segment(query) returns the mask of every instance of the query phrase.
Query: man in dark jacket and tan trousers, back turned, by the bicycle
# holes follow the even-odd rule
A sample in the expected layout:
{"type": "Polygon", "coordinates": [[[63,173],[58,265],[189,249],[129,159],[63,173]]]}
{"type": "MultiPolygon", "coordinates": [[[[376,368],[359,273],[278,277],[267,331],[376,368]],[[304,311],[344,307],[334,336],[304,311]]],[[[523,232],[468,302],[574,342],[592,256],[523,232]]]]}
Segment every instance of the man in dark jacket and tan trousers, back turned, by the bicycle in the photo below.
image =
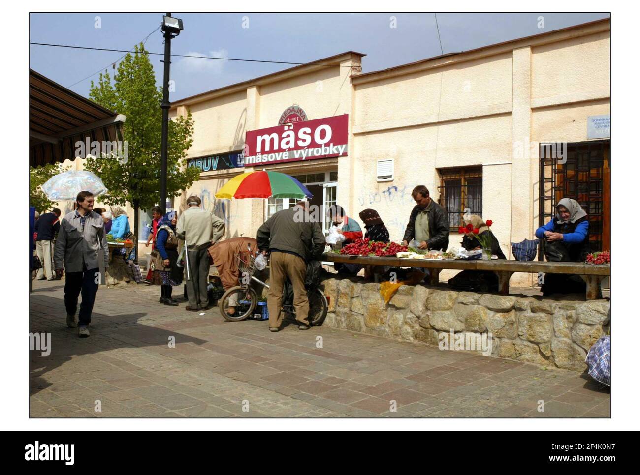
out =
{"type": "Polygon", "coordinates": [[[310,219],[307,201],[299,201],[288,210],[271,216],[257,233],[262,254],[271,254],[269,263],[269,331],[282,324],[282,288],[287,277],[293,286],[293,306],[298,329],[308,330],[309,300],[305,289],[307,261],[317,259],[324,251],[324,234],[320,224],[310,219]]]}

